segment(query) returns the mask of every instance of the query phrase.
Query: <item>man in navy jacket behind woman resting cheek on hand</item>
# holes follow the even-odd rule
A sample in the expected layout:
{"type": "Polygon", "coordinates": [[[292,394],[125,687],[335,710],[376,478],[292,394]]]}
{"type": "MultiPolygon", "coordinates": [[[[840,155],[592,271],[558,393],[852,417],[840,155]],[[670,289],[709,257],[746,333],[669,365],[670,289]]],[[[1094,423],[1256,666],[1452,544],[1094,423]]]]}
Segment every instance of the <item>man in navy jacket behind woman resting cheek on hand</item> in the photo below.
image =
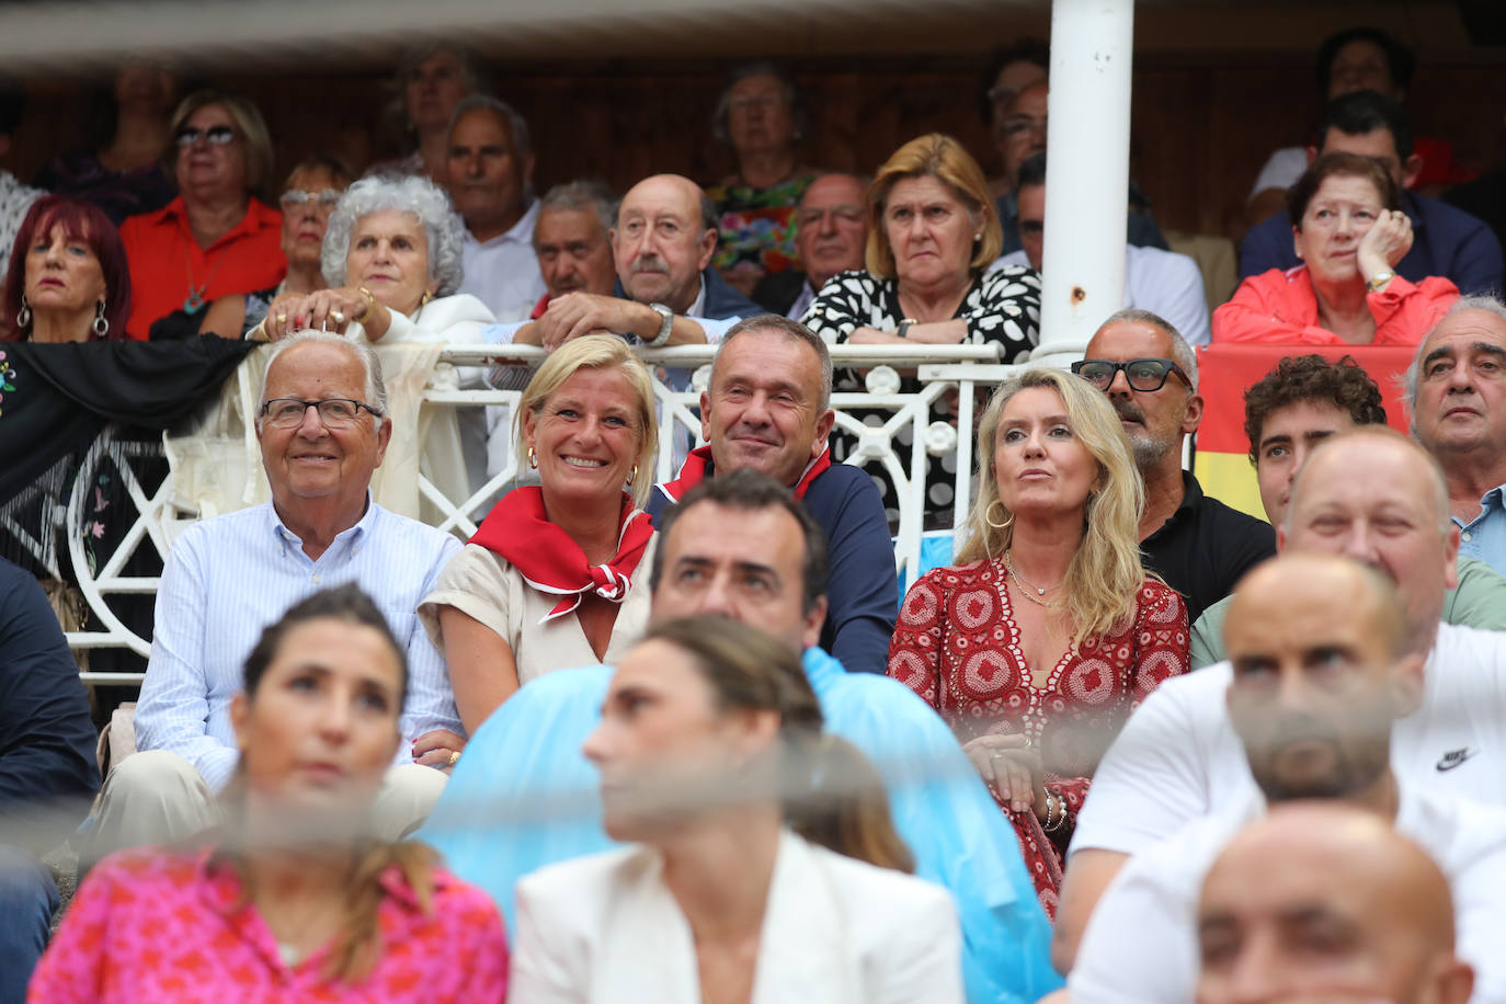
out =
{"type": "MultiPolygon", "coordinates": [[[[1373,90],[1330,101],[1318,123],[1318,143],[1307,151],[1309,164],[1336,151],[1373,157],[1401,187],[1422,170],[1422,160],[1413,154],[1407,113],[1373,90]]],[[[1402,193],[1402,209],[1416,235],[1411,250],[1396,265],[1404,278],[1417,283],[1428,275],[1443,275],[1465,295],[1501,288],[1501,245],[1483,221],[1411,191],[1402,193]]],[[[1292,221],[1285,212],[1256,224],[1239,245],[1241,278],[1300,263],[1292,247],[1292,221]]]]}

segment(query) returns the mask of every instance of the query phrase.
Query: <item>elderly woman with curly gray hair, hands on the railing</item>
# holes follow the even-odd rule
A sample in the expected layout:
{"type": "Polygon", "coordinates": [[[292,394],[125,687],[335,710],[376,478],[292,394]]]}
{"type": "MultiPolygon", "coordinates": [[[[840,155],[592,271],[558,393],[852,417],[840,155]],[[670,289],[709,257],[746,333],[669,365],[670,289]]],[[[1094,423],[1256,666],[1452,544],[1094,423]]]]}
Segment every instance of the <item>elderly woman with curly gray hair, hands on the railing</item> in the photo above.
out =
{"type": "Polygon", "coordinates": [[[301,328],[367,340],[483,340],[491,310],[461,284],[461,220],[426,178],[363,178],[340,197],[324,233],[330,289],[288,297],[267,312],[262,337],[301,328]]]}

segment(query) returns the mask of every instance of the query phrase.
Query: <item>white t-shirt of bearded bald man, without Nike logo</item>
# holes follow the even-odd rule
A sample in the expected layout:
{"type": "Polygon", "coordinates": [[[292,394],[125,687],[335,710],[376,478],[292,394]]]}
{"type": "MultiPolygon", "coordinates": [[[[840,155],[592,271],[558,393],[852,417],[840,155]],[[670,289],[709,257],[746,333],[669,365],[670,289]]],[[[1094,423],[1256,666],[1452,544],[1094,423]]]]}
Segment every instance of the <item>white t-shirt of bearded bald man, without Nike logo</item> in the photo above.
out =
{"type": "MultiPolygon", "coordinates": [[[[1461,768],[1462,769],[1462,768],[1461,768]]],[[[1506,984],[1506,808],[1399,783],[1396,829],[1438,864],[1453,891],[1456,951],[1474,966],[1471,1001],[1501,1001],[1506,984]]],[[[1200,954],[1203,876],[1245,823],[1265,814],[1254,795],[1194,820],[1137,853],[1098,902],[1077,965],[1072,1004],[1185,1004],[1200,954]]]]}

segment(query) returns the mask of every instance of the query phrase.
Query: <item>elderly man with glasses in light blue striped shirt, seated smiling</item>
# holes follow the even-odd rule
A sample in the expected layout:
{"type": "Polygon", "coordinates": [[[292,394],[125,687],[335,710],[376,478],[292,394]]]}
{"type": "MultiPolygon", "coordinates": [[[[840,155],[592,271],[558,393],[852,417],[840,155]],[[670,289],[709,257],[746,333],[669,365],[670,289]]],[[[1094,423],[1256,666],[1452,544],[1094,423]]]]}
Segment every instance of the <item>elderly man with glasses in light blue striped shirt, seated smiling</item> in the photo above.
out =
{"type": "MultiPolygon", "coordinates": [[[[321,589],[357,583],[408,659],[407,742],[376,802],[380,834],[396,837],[428,814],[446,778],[431,768],[453,765],[464,745],[444,659],[414,614],[461,545],[370,497],[392,438],[375,354],[334,334],[295,334],[277,345],[261,400],[271,501],[188,527],[167,555],[136,710],[140,753],[105,781],[86,864],[223,822],[217,795],[239,762],[230,703],[241,667],[267,625],[321,589]]],[[[310,679],[313,700],[318,667],[310,679]]]]}

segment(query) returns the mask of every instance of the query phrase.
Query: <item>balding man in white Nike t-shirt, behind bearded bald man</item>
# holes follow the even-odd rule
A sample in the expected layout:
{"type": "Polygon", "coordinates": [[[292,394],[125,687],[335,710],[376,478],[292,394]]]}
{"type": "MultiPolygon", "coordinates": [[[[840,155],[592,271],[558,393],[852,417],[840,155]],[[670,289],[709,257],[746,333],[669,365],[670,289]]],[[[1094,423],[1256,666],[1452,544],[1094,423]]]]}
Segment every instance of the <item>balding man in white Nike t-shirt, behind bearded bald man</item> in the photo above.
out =
{"type": "MultiPolygon", "coordinates": [[[[1402,598],[1408,649],[1426,655],[1422,706],[1392,735],[1402,778],[1506,805],[1506,635],[1438,623],[1456,581],[1458,527],[1437,462],[1386,426],[1330,437],[1309,455],[1280,551],[1348,554],[1402,598]]],[[[1072,837],[1053,962],[1077,941],[1125,858],[1254,792],[1224,707],[1227,662],[1167,680],[1108,748],[1072,837]]]]}

